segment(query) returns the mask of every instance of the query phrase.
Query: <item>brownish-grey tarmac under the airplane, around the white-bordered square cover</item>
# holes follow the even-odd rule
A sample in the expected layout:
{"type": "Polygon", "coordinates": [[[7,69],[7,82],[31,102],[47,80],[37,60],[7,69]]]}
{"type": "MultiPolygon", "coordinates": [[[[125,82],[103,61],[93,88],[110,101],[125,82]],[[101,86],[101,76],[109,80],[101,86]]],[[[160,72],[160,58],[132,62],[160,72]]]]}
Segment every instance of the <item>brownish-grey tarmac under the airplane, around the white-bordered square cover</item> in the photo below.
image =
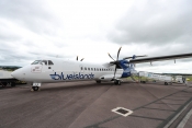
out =
{"type": "Polygon", "coordinates": [[[192,88],[95,81],[0,89],[0,128],[192,128],[192,88]],[[112,109],[124,107],[124,117],[112,109]]]}

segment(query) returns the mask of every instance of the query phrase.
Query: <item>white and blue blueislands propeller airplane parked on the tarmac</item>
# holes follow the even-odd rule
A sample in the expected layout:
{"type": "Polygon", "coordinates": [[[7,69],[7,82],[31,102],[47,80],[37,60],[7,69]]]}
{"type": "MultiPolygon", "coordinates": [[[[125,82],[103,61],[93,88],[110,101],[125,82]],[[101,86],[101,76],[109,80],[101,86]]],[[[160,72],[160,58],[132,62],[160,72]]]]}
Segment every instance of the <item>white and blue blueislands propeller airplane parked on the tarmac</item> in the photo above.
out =
{"type": "MultiPolygon", "coordinates": [[[[135,70],[136,63],[190,58],[192,54],[180,54],[161,57],[139,58],[145,56],[125,57],[118,60],[121,48],[117,51],[116,60],[93,65],[81,61],[69,61],[59,58],[35,60],[29,66],[20,68],[11,73],[12,77],[26,82],[32,82],[31,91],[39,91],[42,83],[47,82],[69,82],[94,80],[97,83],[103,81],[112,81],[116,85],[121,85],[122,79],[137,74],[135,70]],[[138,58],[138,59],[136,59],[138,58]],[[129,59],[129,60],[128,60],[129,59]]],[[[78,60],[78,57],[77,57],[78,60]]]]}

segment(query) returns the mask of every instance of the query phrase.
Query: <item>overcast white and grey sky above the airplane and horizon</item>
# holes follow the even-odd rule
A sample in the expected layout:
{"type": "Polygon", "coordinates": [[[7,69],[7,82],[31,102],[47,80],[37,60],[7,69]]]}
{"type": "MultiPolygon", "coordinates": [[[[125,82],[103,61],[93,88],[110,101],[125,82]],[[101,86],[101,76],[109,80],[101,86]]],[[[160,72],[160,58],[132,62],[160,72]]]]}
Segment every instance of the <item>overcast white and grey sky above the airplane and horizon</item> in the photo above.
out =
{"type": "MultiPolygon", "coordinates": [[[[192,53],[191,0],[0,0],[0,66],[64,58],[102,63],[133,55],[192,53]]],[[[138,63],[192,73],[192,58],[138,63]]]]}

